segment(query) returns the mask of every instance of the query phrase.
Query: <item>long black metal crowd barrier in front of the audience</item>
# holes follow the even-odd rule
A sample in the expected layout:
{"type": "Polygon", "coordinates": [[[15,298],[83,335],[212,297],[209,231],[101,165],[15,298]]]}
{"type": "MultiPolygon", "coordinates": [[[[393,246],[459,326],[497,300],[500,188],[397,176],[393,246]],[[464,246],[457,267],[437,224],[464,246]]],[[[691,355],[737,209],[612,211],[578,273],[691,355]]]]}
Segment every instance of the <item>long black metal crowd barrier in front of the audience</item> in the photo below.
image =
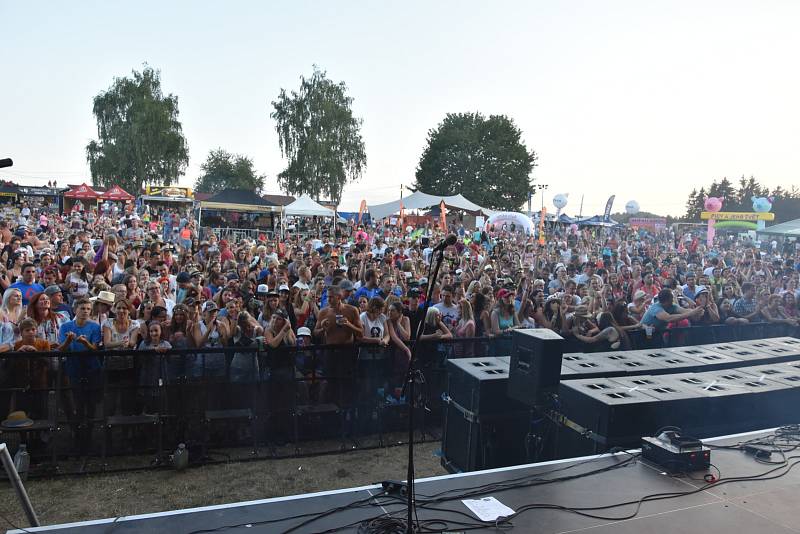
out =
{"type": "MultiPolygon", "coordinates": [[[[796,328],[764,323],[676,328],[650,337],[632,331],[629,337],[633,349],[646,349],[797,334],[796,328]]],[[[424,378],[415,388],[415,418],[421,439],[435,438],[446,361],[508,356],[511,339],[420,343],[424,378]]],[[[565,352],[597,350],[608,348],[571,338],[565,352]]],[[[0,427],[0,441],[12,450],[26,443],[42,472],[70,457],[105,466],[109,456],[151,455],[159,464],[178,443],[189,444],[200,458],[230,447],[275,455],[280,446],[299,454],[303,444],[320,441],[327,449],[315,452],[333,452],[359,447],[367,436],[381,446],[407,423],[402,354],[376,345],[5,353],[0,418],[21,410],[32,424],[0,427]]]]}

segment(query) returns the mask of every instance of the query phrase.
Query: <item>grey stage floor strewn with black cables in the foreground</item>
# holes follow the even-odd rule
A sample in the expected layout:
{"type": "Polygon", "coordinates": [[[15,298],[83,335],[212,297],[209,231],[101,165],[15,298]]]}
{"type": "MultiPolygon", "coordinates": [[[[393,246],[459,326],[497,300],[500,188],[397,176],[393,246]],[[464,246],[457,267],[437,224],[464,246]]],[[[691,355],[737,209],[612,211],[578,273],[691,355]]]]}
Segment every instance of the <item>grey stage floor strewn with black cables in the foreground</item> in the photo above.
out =
{"type": "MultiPolygon", "coordinates": [[[[774,430],[774,429],[773,429],[774,430]]],[[[705,443],[731,445],[760,436],[773,430],[748,432],[734,436],[706,439],[705,443]]],[[[596,534],[659,534],[692,533],[779,534],[800,532],[800,468],[779,469],[772,476],[786,472],[785,476],[763,481],[735,481],[725,484],[706,484],[703,473],[692,478],[672,477],[659,468],[637,459],[631,461],[630,453],[599,455],[540,464],[493,469],[474,473],[446,475],[417,481],[417,496],[422,502],[426,496],[451,491],[461,494],[470,488],[493,483],[509,483],[524,479],[526,487],[512,489],[479,488],[469,498],[493,496],[506,506],[519,511],[523,506],[538,505],[510,520],[505,528],[513,532],[567,533],[591,531],[596,534]],[[614,467],[622,463],[621,467],[614,467]],[[548,482],[547,479],[567,477],[608,468],[584,477],[548,482]],[[707,486],[707,487],[706,487],[707,486]],[[636,510],[635,505],[610,507],[608,505],[638,501],[645,495],[684,493],[665,500],[648,501],[633,519],[622,519],[636,510]],[[572,511],[557,510],[542,505],[570,508],[594,508],[586,513],[604,516],[603,519],[578,515],[572,511]]],[[[800,462],[800,452],[787,453],[789,465],[800,462]],[[797,454],[797,456],[792,456],[797,454]]],[[[778,460],[774,455],[772,460],[778,460]]],[[[711,460],[722,474],[722,480],[763,474],[778,466],[765,465],[739,450],[715,449],[711,460]]],[[[405,471],[397,466],[398,473],[405,471]]],[[[713,468],[710,473],[717,475],[713,468]]],[[[364,486],[338,491],[297,495],[176,510],[116,519],[104,519],[65,525],[30,528],[27,532],[56,532],[59,534],[111,534],[126,532],[193,533],[193,532],[324,532],[343,528],[342,532],[355,532],[358,523],[385,513],[403,516],[403,506],[395,500],[376,499],[380,486],[364,486]],[[360,502],[359,505],[354,503],[360,502]],[[325,517],[305,525],[316,514],[342,507],[325,517]],[[302,518],[293,516],[304,515],[302,518]],[[348,526],[349,525],[349,526],[348,526]]],[[[55,497],[55,496],[54,496],[55,497]]],[[[35,505],[35,503],[34,503],[35,505]]],[[[462,532],[465,523],[477,523],[477,518],[461,502],[461,498],[418,507],[421,521],[442,520],[447,524],[429,524],[434,529],[462,532]],[[461,523],[461,525],[459,525],[461,523]]],[[[438,530],[429,530],[429,532],[438,530]]],[[[23,531],[9,531],[23,532],[23,531]]],[[[478,532],[498,532],[486,525],[478,532]]]]}

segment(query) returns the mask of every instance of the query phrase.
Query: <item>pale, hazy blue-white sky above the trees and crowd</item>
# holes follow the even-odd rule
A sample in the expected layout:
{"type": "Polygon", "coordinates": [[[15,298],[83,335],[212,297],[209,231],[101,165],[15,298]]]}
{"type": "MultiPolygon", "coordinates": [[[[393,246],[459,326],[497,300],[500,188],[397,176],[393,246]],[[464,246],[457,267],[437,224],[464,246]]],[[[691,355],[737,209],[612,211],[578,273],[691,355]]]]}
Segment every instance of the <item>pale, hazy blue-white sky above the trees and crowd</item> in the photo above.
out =
{"type": "MultiPolygon", "coordinates": [[[[0,178],[90,182],[92,98],[147,63],[179,98],[193,185],[209,150],[279,192],[269,117],[313,65],[363,119],[342,211],[395,200],[447,113],[505,114],[538,157],[534,204],[684,212],[692,188],[800,185],[800,2],[43,2],[0,0],[0,178]]],[[[407,193],[406,193],[407,194],[407,193]]]]}

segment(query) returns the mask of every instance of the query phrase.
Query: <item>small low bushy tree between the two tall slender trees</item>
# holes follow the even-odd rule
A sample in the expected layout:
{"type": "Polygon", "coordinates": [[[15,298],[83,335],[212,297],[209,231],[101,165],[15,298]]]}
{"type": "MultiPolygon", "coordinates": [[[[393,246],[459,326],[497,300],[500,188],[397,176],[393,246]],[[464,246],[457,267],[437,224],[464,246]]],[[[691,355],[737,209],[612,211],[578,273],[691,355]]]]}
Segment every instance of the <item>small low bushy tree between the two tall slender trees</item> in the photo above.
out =
{"type": "Polygon", "coordinates": [[[195,191],[219,193],[225,189],[248,189],[259,195],[264,191],[267,177],[253,168],[253,160],[218,148],[208,153],[200,166],[202,173],[194,184],[195,191]]]}

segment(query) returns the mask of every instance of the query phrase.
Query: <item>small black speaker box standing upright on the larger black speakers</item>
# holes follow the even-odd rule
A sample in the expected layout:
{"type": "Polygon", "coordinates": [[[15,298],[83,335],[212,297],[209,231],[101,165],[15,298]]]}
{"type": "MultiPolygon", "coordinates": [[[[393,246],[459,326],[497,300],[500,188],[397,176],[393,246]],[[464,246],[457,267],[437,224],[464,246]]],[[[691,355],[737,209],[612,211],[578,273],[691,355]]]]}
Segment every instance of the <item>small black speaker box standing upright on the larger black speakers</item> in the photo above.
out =
{"type": "Polygon", "coordinates": [[[529,406],[558,391],[564,338],[545,328],[514,330],[508,396],[529,406]]]}

